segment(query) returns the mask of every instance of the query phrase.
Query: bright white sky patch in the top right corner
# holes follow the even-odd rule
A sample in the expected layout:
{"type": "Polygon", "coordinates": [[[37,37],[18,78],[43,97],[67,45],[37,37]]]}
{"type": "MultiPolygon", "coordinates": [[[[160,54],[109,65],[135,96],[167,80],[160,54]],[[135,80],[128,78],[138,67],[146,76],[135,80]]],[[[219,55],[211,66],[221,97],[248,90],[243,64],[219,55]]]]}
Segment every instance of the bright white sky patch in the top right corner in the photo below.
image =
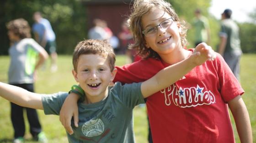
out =
{"type": "Polygon", "coordinates": [[[220,20],[221,13],[226,8],[232,10],[232,19],[238,22],[250,22],[248,13],[256,8],[256,0],[212,0],[210,13],[220,20]]]}

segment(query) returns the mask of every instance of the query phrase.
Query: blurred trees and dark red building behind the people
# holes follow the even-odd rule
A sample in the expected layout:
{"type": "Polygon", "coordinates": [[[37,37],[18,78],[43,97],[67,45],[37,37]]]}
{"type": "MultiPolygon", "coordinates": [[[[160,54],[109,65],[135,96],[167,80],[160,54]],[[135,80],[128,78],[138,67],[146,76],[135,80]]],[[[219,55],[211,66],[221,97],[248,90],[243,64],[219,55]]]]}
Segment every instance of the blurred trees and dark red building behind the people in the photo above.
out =
{"type": "MultiPolygon", "coordinates": [[[[6,23],[16,18],[26,19],[30,26],[34,23],[32,15],[40,11],[48,19],[56,33],[58,54],[72,54],[75,45],[87,38],[92,20],[106,20],[113,34],[121,31],[122,21],[130,13],[132,0],[1,0],[0,1],[0,55],[8,55],[9,39],[6,23]]],[[[208,17],[211,29],[211,46],[219,43],[219,19],[209,14],[211,0],[169,0],[181,20],[188,23],[194,17],[194,10],[200,8],[208,17]]],[[[227,5],[232,9],[232,5],[227,5]]],[[[219,11],[221,13],[222,11],[219,11]]],[[[241,47],[244,53],[256,53],[256,8],[248,13],[252,22],[238,23],[240,26],[241,47]]],[[[187,39],[192,47],[193,29],[188,31],[187,39]]]]}

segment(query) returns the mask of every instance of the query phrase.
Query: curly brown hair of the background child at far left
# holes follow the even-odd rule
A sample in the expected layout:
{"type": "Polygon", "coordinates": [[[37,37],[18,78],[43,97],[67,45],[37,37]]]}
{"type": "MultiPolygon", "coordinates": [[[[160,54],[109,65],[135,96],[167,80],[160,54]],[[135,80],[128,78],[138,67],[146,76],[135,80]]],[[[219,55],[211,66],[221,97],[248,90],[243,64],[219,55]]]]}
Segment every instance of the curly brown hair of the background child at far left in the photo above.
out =
{"type": "Polygon", "coordinates": [[[19,18],[16,20],[11,20],[6,24],[8,31],[12,31],[20,39],[31,38],[30,26],[27,20],[19,18]]]}

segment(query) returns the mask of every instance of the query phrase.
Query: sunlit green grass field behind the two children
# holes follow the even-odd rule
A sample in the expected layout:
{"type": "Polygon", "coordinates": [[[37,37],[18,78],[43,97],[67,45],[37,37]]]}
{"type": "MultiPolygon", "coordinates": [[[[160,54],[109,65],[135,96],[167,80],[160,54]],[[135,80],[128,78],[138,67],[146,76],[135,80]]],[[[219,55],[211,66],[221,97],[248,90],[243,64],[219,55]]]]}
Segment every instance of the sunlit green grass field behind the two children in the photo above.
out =
{"type": "MultiPolygon", "coordinates": [[[[117,56],[116,65],[123,65],[126,61],[125,56],[117,56]]],[[[49,61],[48,61],[49,63],[49,61]]],[[[47,64],[46,69],[38,72],[35,91],[37,93],[53,93],[59,91],[69,91],[71,85],[76,84],[72,77],[72,57],[59,56],[58,72],[51,73],[47,64]]],[[[9,57],[0,56],[0,82],[7,82],[7,71],[9,67],[9,57]]],[[[256,141],[256,54],[244,54],[241,60],[241,84],[245,89],[243,99],[248,108],[253,129],[254,141],[256,141]]],[[[145,107],[135,107],[134,111],[134,130],[137,143],[147,143],[148,124],[146,119],[145,107]]],[[[67,143],[66,133],[59,116],[44,115],[43,111],[38,110],[43,130],[46,133],[49,143],[67,143]]],[[[26,117],[26,116],[25,116],[26,117]]],[[[231,117],[232,118],[232,117],[231,117]]],[[[235,127],[232,119],[233,127],[235,127]]],[[[31,141],[26,121],[26,143],[31,141]]],[[[235,130],[235,129],[234,129],[235,130]]],[[[0,143],[11,143],[13,128],[10,118],[10,103],[0,97],[0,143]]],[[[239,138],[235,130],[235,139],[239,143],[239,138]]]]}

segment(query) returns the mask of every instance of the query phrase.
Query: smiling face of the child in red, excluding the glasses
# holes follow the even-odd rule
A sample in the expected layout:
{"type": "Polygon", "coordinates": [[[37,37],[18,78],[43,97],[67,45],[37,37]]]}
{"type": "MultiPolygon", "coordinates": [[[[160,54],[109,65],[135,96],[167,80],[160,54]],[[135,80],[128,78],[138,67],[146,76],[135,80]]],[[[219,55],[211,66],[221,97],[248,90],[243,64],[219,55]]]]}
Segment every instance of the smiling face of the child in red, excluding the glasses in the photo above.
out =
{"type": "MultiPolygon", "coordinates": [[[[143,30],[157,26],[162,21],[169,18],[171,18],[171,15],[164,10],[153,8],[142,17],[143,30]]],[[[175,53],[172,51],[178,50],[176,47],[181,47],[180,30],[179,23],[177,22],[172,22],[166,29],[158,27],[157,33],[154,36],[144,36],[146,47],[156,51],[161,57],[175,53]]]]}

